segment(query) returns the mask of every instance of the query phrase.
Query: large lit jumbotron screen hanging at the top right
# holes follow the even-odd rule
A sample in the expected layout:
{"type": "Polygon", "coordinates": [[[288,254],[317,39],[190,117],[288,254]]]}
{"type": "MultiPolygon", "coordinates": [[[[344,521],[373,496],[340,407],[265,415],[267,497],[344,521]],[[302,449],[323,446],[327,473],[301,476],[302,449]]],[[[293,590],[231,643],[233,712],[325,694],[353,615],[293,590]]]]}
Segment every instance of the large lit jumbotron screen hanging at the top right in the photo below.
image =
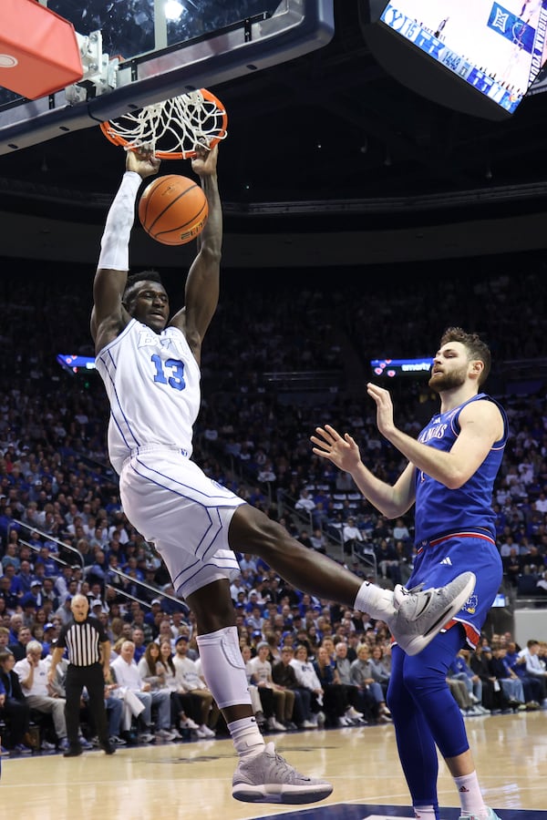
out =
{"type": "Polygon", "coordinates": [[[397,47],[391,54],[384,37],[376,42],[377,26],[366,26],[378,61],[408,87],[449,108],[466,110],[470,101],[469,113],[480,115],[480,104],[474,106],[470,96],[477,92],[511,115],[547,59],[547,0],[371,0],[369,6],[368,23],[376,17],[378,26],[427,57],[429,82],[409,70],[397,47]],[[468,88],[467,98],[454,81],[468,88]]]}

